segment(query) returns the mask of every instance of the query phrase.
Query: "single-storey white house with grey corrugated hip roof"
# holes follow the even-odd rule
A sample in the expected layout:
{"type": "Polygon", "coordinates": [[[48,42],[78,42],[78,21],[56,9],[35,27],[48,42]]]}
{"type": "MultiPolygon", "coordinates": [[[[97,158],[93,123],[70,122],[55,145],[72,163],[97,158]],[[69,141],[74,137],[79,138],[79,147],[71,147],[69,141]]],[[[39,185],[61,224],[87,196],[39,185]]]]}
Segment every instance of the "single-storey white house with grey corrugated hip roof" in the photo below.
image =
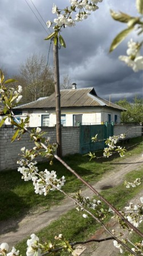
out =
{"type": "MultiPolygon", "coordinates": [[[[124,108],[101,99],[95,89],[60,90],[61,93],[61,122],[63,126],[82,124],[103,124],[105,121],[120,123],[121,111],[124,108]]],[[[13,109],[18,119],[30,116],[30,127],[53,127],[56,125],[55,93],[49,97],[40,98],[28,104],[19,105],[13,109]]]]}

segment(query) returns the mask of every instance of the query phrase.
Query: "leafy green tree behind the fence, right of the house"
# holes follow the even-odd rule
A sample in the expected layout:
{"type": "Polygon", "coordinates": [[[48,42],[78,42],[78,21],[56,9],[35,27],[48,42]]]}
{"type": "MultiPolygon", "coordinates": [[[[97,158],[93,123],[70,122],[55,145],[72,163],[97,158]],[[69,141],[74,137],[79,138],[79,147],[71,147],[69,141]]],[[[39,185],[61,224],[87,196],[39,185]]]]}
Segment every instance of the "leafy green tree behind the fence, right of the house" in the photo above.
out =
{"type": "Polygon", "coordinates": [[[126,99],[116,101],[115,104],[125,108],[127,111],[121,113],[121,122],[143,122],[143,100],[140,97],[135,96],[133,103],[129,103],[126,99]]]}

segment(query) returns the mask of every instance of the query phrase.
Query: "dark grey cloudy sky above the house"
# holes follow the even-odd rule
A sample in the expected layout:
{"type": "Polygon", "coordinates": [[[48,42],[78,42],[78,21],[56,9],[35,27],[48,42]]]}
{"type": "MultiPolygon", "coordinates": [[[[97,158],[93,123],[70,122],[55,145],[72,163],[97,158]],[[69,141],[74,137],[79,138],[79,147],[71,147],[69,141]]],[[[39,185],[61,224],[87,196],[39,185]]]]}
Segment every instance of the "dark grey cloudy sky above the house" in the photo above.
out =
{"type": "MultiPolygon", "coordinates": [[[[51,12],[53,3],[59,9],[70,5],[69,0],[0,1],[0,68],[10,77],[19,73],[19,66],[32,54],[48,58],[50,41],[44,38],[53,29],[50,32],[44,21],[56,18],[51,12]]],[[[98,6],[88,19],[63,29],[66,49],[59,50],[60,82],[64,75],[68,75],[71,82],[77,84],[77,89],[94,87],[99,97],[110,98],[112,102],[124,98],[132,101],[135,95],[142,97],[142,72],[134,73],[118,59],[120,55],[126,55],[127,42],[130,38],[137,39],[136,34],[130,34],[109,53],[113,38],[126,28],[125,23],[111,18],[109,10],[136,16],[135,0],[103,0],[98,6]]],[[[52,46],[48,65],[53,66],[52,46]]]]}

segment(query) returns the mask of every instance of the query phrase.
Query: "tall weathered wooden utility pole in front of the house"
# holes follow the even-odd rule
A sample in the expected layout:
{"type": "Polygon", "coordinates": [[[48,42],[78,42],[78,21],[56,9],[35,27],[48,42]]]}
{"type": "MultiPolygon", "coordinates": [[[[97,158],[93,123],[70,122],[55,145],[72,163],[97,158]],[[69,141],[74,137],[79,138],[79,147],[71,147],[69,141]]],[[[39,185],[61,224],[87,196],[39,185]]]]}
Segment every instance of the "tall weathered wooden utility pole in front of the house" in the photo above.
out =
{"type": "Polygon", "coordinates": [[[57,155],[62,157],[62,128],[61,128],[61,109],[60,109],[60,76],[59,76],[59,54],[58,38],[54,44],[54,74],[55,74],[55,99],[56,99],[56,143],[58,144],[57,155]]]}

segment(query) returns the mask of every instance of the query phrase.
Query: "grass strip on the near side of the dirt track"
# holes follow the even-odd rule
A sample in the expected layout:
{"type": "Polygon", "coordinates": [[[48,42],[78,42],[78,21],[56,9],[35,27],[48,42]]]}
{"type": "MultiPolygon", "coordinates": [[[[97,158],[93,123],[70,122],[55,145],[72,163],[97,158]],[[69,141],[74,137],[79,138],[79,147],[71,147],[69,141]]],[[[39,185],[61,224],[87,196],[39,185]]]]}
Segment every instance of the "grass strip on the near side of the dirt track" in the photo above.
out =
{"type": "MultiPolygon", "coordinates": [[[[142,171],[143,168],[138,171],[132,171],[125,176],[125,179],[129,182],[136,178],[142,179],[142,171]]],[[[121,184],[114,188],[110,188],[108,192],[102,191],[101,194],[116,208],[121,210],[126,206],[126,203],[136,196],[141,190],[141,186],[127,189],[124,184],[121,184]]],[[[36,235],[38,235],[40,241],[43,243],[46,241],[53,241],[55,235],[59,234],[63,234],[70,242],[84,241],[85,239],[91,238],[100,226],[90,216],[88,216],[87,219],[84,219],[82,214],[83,212],[77,212],[75,209],[68,211],[67,214],[64,214],[61,218],[52,222],[48,227],[42,229],[36,235]],[[76,225],[73,225],[73,223],[76,223],[76,225]]],[[[107,218],[107,221],[108,220],[109,217],[107,218]]],[[[21,251],[22,255],[25,255],[26,253],[26,241],[27,238],[16,246],[21,251]]],[[[64,253],[60,255],[68,254],[64,253]]]]}

